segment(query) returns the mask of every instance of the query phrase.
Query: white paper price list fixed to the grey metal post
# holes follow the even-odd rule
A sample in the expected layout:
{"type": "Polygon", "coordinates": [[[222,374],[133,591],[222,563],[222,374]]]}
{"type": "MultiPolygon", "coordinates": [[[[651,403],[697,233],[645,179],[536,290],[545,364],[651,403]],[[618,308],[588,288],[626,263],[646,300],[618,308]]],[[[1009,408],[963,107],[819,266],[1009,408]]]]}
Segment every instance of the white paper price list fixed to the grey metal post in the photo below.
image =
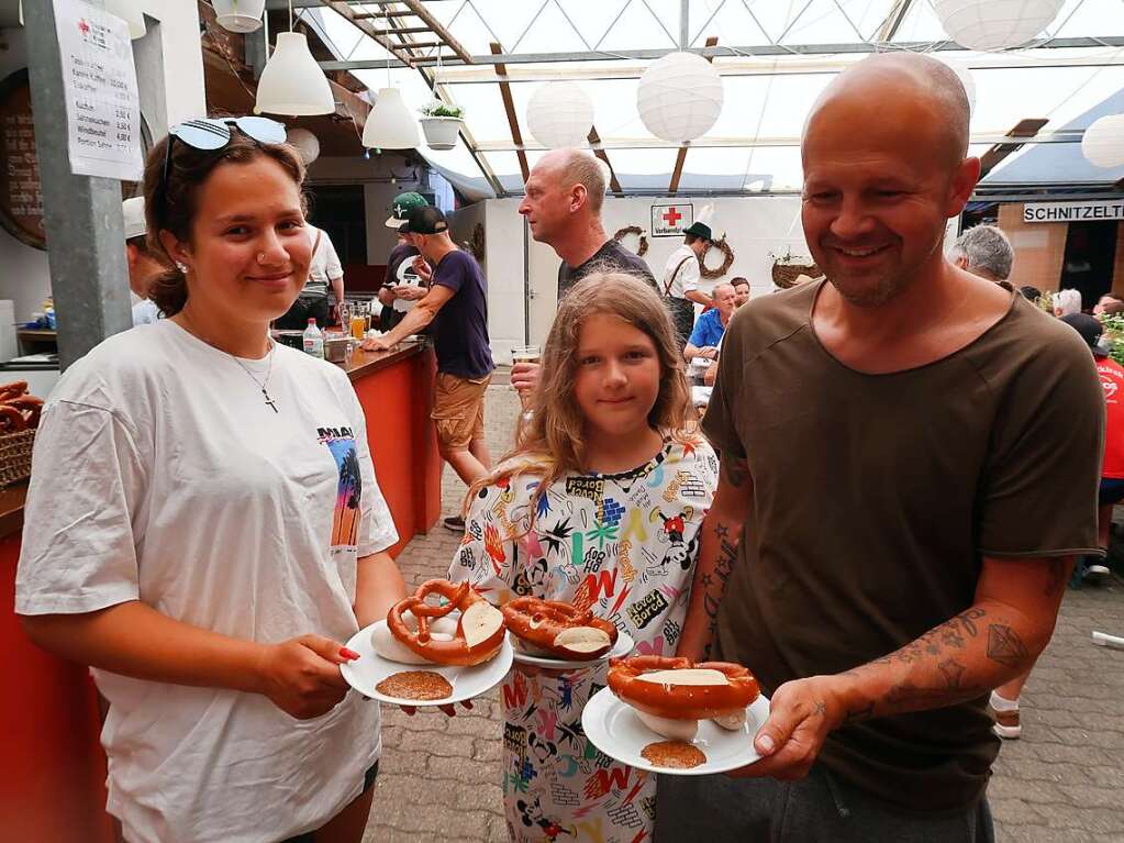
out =
{"type": "Polygon", "coordinates": [[[139,181],[140,98],[128,24],[83,0],[53,0],[71,171],[139,181]]]}

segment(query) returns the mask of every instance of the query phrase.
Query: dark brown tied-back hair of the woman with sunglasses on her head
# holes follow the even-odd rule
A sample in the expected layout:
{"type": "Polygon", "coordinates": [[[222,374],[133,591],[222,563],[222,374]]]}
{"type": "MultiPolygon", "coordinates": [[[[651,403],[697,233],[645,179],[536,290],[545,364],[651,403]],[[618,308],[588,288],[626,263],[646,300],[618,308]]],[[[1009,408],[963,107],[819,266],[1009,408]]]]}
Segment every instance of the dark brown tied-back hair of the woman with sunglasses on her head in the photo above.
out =
{"type": "Polygon", "coordinates": [[[148,153],[144,167],[144,212],[148,224],[148,247],[155,257],[169,264],[167,271],[157,275],[148,288],[152,299],[164,316],[175,316],[188,302],[188,279],[176,266],[160,239],[161,230],[171,232],[183,243],[191,242],[196,221],[199,189],[219,164],[248,164],[259,156],[278,162],[292,176],[300,191],[301,210],[306,209],[305,164],[300,154],[289,144],[262,144],[230,127],[230,143],[221,149],[197,149],[178,140],[172,144],[172,158],[165,167],[167,136],[148,153]],[[166,171],[166,172],[165,172],[166,171]],[[166,261],[165,261],[166,259],[166,261]]]}

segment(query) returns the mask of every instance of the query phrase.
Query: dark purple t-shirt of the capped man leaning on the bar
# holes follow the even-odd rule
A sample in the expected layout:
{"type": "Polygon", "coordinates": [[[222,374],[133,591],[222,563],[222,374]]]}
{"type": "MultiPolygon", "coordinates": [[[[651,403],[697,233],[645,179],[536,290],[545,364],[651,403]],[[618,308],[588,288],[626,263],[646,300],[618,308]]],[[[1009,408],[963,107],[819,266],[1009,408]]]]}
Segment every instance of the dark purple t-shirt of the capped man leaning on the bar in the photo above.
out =
{"type": "Polygon", "coordinates": [[[480,264],[468,252],[450,252],[434,270],[433,283],[453,291],[433,320],[437,371],[473,380],[490,374],[496,364],[488,339],[488,296],[480,264]]]}

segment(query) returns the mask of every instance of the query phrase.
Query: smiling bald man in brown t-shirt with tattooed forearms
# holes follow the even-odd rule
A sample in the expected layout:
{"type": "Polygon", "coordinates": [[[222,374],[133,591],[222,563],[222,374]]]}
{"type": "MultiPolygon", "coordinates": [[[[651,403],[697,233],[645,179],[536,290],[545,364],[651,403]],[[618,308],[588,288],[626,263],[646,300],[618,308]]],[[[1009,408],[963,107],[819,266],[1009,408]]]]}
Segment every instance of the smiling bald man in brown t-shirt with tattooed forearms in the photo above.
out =
{"type": "Polygon", "coordinates": [[[731,320],[679,645],[756,674],[761,760],[661,777],[656,840],[992,840],[987,695],[1098,552],[1104,409],[1076,332],[944,260],[967,147],[963,88],[918,54],[860,62],[807,119],[827,279],[731,320]]]}

